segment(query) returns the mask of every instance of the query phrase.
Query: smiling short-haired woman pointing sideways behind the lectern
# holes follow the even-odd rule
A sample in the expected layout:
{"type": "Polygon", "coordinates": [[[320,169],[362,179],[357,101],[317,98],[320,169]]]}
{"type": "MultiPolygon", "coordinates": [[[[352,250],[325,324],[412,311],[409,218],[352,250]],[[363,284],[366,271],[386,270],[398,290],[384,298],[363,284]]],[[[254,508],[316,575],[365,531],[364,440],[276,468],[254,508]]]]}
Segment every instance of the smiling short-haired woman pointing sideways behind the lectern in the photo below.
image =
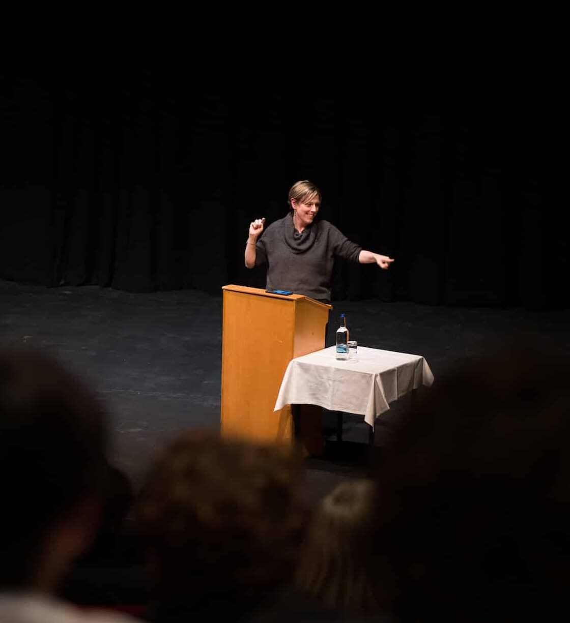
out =
{"type": "Polygon", "coordinates": [[[245,250],[248,269],[268,264],[268,290],[291,290],[296,294],[331,303],[331,276],[334,259],[387,269],[394,260],[365,251],[350,242],[328,221],[317,221],[321,191],[304,179],[289,190],[291,211],[264,231],[265,219],[249,224],[245,250]]]}

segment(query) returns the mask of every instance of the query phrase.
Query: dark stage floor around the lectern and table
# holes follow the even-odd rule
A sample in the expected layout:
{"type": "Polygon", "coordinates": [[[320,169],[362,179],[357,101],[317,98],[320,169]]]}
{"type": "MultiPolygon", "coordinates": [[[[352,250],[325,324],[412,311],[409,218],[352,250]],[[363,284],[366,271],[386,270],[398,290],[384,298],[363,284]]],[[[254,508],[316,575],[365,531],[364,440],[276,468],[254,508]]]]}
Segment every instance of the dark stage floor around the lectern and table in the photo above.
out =
{"type": "MultiPolygon", "coordinates": [[[[220,425],[221,303],[221,297],[196,290],[133,294],[0,281],[1,340],[49,348],[90,379],[112,409],[114,461],[136,483],[164,440],[189,427],[220,425]]],[[[421,354],[436,380],[455,356],[477,350],[488,339],[516,330],[554,334],[564,343],[570,336],[568,310],[364,300],[334,303],[327,345],[341,312],[347,313],[351,337],[360,345],[421,354]]],[[[388,421],[406,408],[400,402],[392,406],[388,421]]],[[[342,478],[365,473],[368,427],[362,417],[345,416],[341,448],[328,419],[326,454],[306,459],[313,500],[342,478]]]]}

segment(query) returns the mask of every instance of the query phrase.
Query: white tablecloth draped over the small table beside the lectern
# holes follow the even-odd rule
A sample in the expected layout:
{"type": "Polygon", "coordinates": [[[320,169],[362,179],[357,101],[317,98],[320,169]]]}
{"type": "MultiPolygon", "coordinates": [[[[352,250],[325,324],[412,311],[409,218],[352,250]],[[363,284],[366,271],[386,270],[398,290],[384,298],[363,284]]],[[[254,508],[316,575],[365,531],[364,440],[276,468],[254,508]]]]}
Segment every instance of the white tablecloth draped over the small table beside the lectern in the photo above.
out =
{"type": "Polygon", "coordinates": [[[390,402],[432,383],[432,371],[420,355],[359,346],[355,359],[339,361],[331,346],[289,362],[274,411],[287,404],[316,404],[362,414],[374,426],[390,402]]]}

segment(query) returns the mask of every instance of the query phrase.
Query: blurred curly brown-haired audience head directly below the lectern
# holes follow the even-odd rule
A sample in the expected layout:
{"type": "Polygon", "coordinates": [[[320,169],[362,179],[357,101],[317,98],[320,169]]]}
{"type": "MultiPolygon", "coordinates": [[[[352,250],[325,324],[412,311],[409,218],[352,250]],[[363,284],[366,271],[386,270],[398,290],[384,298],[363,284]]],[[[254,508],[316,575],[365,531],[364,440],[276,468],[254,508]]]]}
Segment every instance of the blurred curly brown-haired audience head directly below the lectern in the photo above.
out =
{"type": "Polygon", "coordinates": [[[167,445],[136,513],[158,602],[235,615],[289,582],[306,522],[300,475],[289,450],[213,432],[167,445]]]}

